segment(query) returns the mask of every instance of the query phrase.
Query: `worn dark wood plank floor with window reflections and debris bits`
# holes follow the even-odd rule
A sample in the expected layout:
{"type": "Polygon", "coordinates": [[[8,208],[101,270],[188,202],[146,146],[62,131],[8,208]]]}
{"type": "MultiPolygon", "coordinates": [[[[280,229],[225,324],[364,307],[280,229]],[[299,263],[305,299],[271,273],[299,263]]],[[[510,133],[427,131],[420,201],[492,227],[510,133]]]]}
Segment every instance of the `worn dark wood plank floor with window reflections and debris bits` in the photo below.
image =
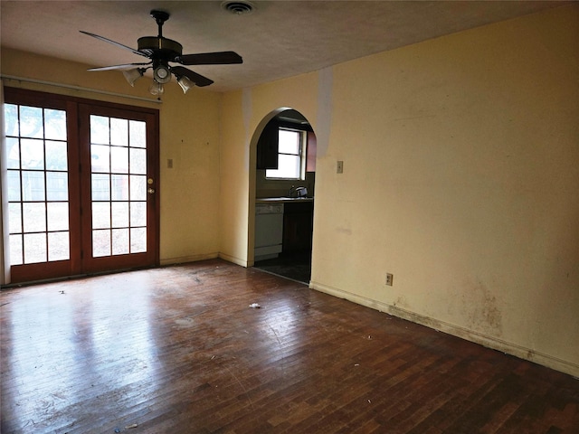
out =
{"type": "Polygon", "coordinates": [[[220,260],[0,297],[4,434],[579,432],[569,375],[220,260]]]}

